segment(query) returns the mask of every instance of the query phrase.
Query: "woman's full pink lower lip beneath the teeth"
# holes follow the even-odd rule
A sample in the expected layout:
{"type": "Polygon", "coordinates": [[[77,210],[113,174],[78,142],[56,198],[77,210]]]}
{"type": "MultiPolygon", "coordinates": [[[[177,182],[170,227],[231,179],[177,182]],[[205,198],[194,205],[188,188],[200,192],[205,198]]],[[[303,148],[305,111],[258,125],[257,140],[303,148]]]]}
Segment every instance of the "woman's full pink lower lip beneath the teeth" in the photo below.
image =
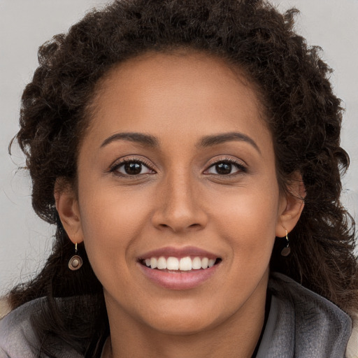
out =
{"type": "Polygon", "coordinates": [[[208,280],[217,271],[217,266],[220,266],[220,264],[215,264],[204,270],[200,269],[171,273],[156,270],[155,268],[149,268],[139,263],[138,265],[146,278],[149,278],[152,282],[167,289],[192,289],[197,287],[208,280]]]}

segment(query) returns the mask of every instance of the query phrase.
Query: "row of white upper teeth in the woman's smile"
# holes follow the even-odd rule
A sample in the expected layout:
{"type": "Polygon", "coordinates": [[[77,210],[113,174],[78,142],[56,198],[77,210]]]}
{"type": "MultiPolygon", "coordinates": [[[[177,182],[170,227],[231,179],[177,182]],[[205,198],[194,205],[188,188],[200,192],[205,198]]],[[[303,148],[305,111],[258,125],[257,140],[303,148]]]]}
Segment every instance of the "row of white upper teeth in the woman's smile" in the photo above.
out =
{"type": "Polygon", "coordinates": [[[145,265],[150,268],[158,268],[159,270],[165,270],[166,268],[171,271],[191,271],[191,270],[199,270],[203,268],[213,267],[215,264],[215,259],[208,259],[208,257],[182,257],[178,259],[177,257],[165,257],[161,256],[150,257],[150,259],[145,259],[145,265]]]}

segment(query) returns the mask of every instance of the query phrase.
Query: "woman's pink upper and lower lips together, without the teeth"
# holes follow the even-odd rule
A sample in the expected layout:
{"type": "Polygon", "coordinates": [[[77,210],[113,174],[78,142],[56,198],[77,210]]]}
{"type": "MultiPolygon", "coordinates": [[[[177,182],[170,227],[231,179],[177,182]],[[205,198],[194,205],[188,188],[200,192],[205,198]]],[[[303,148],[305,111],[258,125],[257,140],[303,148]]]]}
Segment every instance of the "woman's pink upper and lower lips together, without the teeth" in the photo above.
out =
{"type": "Polygon", "coordinates": [[[194,248],[187,246],[185,248],[173,248],[166,247],[157,250],[145,252],[144,255],[138,257],[137,265],[139,269],[145,275],[145,278],[152,281],[156,285],[162,286],[166,289],[182,290],[193,289],[202,285],[206,280],[211,278],[220,266],[215,264],[214,266],[206,269],[192,270],[192,271],[162,271],[153,268],[149,268],[141,264],[143,259],[150,257],[208,257],[208,259],[220,258],[220,255],[215,255],[213,252],[208,252],[200,248],[194,248]]]}

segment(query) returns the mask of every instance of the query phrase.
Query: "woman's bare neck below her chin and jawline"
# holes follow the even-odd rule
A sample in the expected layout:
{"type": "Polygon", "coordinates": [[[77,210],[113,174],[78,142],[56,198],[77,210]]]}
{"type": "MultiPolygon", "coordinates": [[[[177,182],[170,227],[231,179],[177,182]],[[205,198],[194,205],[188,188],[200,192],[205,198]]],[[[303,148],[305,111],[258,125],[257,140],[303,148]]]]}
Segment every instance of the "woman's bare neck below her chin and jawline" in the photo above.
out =
{"type": "Polygon", "coordinates": [[[250,358],[264,325],[266,287],[224,322],[190,334],[161,332],[108,307],[110,354],[104,357],[250,358]]]}

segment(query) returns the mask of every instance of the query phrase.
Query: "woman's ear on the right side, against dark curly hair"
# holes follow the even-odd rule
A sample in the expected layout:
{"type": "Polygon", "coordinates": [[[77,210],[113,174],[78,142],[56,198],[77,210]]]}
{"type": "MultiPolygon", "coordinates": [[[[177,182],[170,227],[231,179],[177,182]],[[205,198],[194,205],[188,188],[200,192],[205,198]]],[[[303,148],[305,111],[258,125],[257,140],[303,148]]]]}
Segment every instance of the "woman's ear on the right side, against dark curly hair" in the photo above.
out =
{"type": "Polygon", "coordinates": [[[301,216],[306,189],[300,173],[294,173],[287,187],[287,192],[280,198],[280,212],[276,225],[276,236],[284,237],[294,229],[301,216]]]}

